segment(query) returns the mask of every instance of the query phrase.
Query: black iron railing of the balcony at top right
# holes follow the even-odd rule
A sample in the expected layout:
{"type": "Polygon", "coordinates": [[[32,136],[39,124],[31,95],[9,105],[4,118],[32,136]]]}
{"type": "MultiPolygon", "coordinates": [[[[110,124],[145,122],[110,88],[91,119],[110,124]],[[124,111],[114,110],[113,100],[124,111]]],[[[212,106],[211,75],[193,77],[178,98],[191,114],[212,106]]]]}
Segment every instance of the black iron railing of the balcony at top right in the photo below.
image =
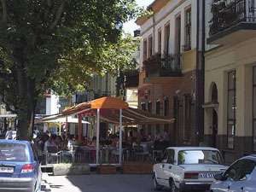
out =
{"type": "Polygon", "coordinates": [[[241,22],[255,23],[255,0],[212,0],[210,37],[241,22]]]}

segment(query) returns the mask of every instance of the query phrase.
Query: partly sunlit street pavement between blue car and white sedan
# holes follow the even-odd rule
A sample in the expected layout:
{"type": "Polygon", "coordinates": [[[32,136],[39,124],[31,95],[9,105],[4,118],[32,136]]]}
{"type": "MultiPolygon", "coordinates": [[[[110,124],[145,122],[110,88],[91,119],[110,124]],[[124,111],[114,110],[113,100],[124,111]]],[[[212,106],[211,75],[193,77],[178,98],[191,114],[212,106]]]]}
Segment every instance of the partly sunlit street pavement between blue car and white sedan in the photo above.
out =
{"type": "Polygon", "coordinates": [[[151,192],[150,175],[49,176],[51,192],[151,192]]]}

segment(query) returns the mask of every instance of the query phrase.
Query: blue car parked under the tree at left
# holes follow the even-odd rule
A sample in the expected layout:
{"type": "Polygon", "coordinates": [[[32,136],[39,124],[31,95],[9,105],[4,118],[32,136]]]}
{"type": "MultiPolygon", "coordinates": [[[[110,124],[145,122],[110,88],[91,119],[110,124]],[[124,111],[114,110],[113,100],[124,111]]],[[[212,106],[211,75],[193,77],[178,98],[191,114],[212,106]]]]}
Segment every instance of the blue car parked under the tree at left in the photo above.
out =
{"type": "Polygon", "coordinates": [[[41,177],[32,143],[0,140],[0,192],[40,192],[41,177]]]}

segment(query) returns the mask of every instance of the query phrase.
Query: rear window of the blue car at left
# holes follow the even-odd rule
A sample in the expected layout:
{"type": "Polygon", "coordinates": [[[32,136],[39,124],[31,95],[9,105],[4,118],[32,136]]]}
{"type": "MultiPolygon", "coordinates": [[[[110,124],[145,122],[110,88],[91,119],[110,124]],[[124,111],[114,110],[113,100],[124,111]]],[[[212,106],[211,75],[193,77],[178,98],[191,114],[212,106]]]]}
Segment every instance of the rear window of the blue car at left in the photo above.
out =
{"type": "Polygon", "coordinates": [[[26,145],[21,143],[0,143],[0,161],[28,161],[26,145]]]}

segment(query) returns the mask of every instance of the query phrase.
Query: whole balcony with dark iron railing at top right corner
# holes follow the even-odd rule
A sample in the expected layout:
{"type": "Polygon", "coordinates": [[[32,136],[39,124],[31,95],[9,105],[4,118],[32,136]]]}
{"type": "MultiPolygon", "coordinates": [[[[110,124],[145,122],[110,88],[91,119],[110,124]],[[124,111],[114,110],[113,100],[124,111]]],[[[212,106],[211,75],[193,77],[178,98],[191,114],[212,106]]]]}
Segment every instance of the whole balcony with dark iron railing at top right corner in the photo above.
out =
{"type": "Polygon", "coordinates": [[[236,44],[256,37],[255,0],[212,0],[208,44],[236,44]],[[229,2],[229,3],[228,3],[229,2]]]}

